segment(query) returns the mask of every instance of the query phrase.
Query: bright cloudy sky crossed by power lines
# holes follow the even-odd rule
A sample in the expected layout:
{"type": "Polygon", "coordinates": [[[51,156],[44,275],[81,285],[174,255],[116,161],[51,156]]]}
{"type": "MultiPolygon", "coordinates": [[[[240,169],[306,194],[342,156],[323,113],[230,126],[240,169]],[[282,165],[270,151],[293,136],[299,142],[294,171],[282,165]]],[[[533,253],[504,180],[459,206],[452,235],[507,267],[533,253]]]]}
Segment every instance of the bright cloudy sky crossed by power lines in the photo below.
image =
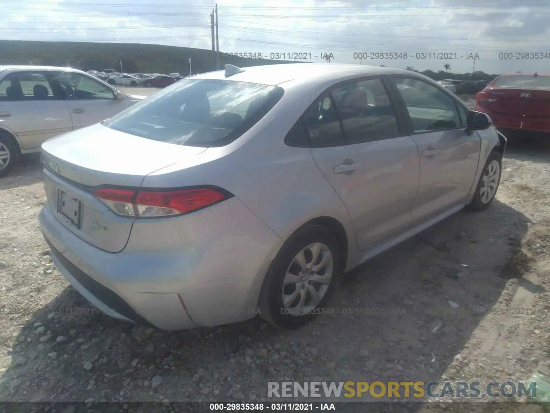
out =
{"type": "MultiPolygon", "coordinates": [[[[0,0],[0,38],[211,48],[210,12],[215,3],[156,1],[0,0]]],[[[262,53],[263,57],[279,53],[279,58],[284,57],[281,53],[301,53],[314,62],[332,53],[334,63],[418,70],[440,70],[448,63],[456,73],[471,72],[472,57],[477,54],[475,70],[486,73],[550,72],[548,0],[279,0],[277,7],[266,4],[218,3],[220,51],[262,53]],[[380,59],[379,53],[392,55],[380,59]],[[542,58],[533,59],[535,53],[542,58]],[[396,58],[384,58],[390,56],[396,58]]]]}

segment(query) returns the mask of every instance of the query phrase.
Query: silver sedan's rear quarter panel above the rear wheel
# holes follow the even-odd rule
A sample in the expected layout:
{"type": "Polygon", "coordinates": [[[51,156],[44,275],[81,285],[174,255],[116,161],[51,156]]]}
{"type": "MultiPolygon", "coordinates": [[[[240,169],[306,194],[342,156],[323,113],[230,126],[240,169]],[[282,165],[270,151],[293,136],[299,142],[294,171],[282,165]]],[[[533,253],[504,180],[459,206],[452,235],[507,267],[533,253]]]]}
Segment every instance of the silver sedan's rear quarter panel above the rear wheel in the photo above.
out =
{"type": "MultiPolygon", "coordinates": [[[[210,148],[205,162],[188,170],[178,164],[145,177],[144,187],[213,184],[237,196],[283,241],[306,222],[337,219],[354,256],[355,234],[342,200],[318,169],[309,148],[293,148],[284,138],[298,117],[335,80],[318,88],[285,89],[281,101],[243,137],[222,148],[210,148]]],[[[348,260],[349,261],[349,260],[348,260]]]]}

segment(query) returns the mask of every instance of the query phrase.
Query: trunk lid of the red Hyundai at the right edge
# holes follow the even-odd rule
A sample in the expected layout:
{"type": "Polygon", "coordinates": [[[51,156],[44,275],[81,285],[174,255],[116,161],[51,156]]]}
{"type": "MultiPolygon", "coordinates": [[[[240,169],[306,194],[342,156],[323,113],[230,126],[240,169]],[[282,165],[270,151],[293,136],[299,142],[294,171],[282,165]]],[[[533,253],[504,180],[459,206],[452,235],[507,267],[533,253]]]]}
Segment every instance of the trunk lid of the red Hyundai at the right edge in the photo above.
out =
{"type": "Polygon", "coordinates": [[[494,113],[502,115],[550,117],[550,90],[486,89],[490,100],[485,103],[494,113]]]}

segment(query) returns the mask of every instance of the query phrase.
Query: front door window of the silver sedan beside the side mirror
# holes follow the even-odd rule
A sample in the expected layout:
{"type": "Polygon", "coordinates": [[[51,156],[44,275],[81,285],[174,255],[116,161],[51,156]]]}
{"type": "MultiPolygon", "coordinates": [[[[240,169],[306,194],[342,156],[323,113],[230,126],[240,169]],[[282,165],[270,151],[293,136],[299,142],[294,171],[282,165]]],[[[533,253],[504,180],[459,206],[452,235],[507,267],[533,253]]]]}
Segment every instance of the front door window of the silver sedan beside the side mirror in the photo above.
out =
{"type": "Polygon", "coordinates": [[[415,133],[461,127],[453,97],[422,80],[393,79],[405,101],[415,133]]]}

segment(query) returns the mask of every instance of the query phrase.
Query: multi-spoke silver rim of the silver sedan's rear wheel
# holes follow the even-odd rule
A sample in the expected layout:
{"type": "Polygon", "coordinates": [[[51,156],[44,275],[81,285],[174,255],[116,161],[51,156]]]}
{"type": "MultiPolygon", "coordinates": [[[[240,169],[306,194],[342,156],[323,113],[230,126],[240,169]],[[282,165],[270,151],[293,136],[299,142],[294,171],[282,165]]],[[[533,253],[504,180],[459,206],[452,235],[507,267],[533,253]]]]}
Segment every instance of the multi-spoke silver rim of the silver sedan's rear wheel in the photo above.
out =
{"type": "Polygon", "coordinates": [[[293,316],[315,309],[331,284],[334,260],[321,242],[308,245],[290,263],[283,280],[283,305],[293,316]]]}

